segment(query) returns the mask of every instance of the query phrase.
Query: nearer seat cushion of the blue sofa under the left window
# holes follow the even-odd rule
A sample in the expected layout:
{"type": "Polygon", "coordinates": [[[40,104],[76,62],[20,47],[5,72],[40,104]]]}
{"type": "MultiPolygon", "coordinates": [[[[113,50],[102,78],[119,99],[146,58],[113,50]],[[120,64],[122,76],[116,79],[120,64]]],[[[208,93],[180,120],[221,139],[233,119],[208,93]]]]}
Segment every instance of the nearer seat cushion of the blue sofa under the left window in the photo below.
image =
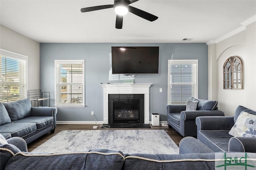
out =
{"type": "Polygon", "coordinates": [[[10,133],[12,137],[24,137],[34,131],[36,123],[7,123],[0,128],[0,133],[10,133]]]}

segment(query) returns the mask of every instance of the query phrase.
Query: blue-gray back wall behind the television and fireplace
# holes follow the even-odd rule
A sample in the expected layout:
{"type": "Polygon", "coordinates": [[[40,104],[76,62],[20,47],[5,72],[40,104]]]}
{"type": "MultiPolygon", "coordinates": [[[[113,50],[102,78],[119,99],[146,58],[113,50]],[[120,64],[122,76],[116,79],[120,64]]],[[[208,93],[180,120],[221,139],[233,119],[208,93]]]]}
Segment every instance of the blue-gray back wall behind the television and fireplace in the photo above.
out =
{"type": "MultiPolygon", "coordinates": [[[[160,121],[167,121],[168,60],[198,59],[198,98],[208,99],[208,46],[206,43],[40,43],[40,88],[50,92],[54,105],[54,60],[85,60],[84,108],[58,107],[57,121],[103,121],[103,89],[100,83],[108,81],[111,46],[159,46],[159,74],[139,74],[135,83],[152,83],[150,113],[159,113],[160,121]],[[163,92],[159,92],[162,88],[163,92]]],[[[151,116],[150,116],[151,119],[151,116]]]]}

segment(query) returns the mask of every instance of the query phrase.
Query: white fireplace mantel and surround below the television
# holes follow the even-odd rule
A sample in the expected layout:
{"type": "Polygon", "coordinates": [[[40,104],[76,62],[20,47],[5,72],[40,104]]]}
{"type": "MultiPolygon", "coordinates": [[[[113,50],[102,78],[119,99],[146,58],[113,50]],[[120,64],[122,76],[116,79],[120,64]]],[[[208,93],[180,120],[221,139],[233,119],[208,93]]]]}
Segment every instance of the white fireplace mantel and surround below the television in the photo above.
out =
{"type": "Polygon", "coordinates": [[[144,123],[149,123],[149,88],[152,84],[101,84],[103,123],[108,123],[108,94],[144,94],[144,123]]]}

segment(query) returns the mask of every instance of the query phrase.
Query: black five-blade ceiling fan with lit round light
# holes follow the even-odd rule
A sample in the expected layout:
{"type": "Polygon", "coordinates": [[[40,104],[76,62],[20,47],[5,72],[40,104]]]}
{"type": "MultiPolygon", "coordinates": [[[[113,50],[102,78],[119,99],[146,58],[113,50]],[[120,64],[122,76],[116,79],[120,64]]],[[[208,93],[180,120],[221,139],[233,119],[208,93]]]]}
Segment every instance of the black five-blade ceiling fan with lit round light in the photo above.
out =
{"type": "Polygon", "coordinates": [[[137,1],[138,0],[114,0],[114,4],[110,4],[110,5],[100,5],[100,6],[81,8],[81,12],[90,12],[90,11],[96,11],[96,10],[103,10],[107,8],[114,8],[116,12],[116,28],[117,29],[122,29],[123,16],[127,14],[128,11],[148,21],[155,21],[158,19],[158,17],[154,16],[153,14],[150,14],[148,12],[142,11],[138,8],[134,8],[129,5],[137,1]]]}

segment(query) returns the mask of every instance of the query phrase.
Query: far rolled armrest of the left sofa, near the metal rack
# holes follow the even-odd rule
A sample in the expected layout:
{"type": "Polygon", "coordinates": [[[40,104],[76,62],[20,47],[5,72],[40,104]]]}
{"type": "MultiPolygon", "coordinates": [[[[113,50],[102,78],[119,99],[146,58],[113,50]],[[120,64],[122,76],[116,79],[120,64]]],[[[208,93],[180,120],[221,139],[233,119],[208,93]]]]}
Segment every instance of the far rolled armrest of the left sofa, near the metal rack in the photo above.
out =
{"type": "Polygon", "coordinates": [[[32,116],[52,116],[54,122],[54,128],[56,127],[56,107],[31,107],[32,116]]]}

